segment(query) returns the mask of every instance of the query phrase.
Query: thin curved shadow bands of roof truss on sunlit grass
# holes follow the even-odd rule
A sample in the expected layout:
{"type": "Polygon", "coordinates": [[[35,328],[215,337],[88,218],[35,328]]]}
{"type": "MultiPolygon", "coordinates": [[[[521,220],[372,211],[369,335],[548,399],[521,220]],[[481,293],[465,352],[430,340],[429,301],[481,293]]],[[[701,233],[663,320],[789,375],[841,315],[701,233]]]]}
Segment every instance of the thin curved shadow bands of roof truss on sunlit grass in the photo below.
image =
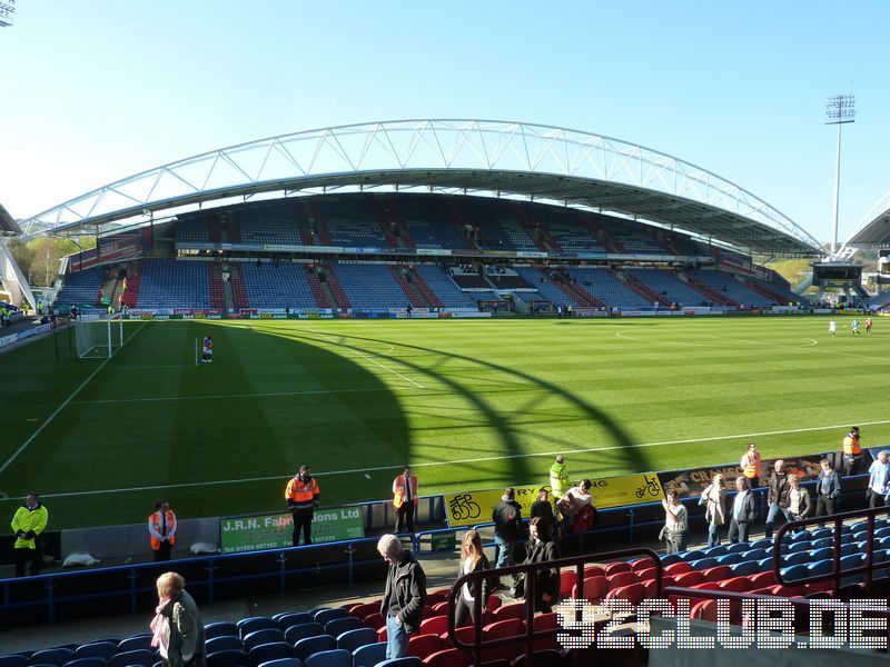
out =
{"type": "MultiPolygon", "coordinates": [[[[317,332],[304,332],[307,337],[313,337],[313,340],[317,341],[317,332]]],[[[476,366],[479,371],[494,371],[497,374],[503,374],[507,377],[515,378],[516,380],[521,380],[525,385],[534,386],[541,389],[546,396],[558,397],[562,400],[568,402],[573,407],[575,407],[581,415],[584,416],[584,419],[595,422],[597,426],[603,428],[606,432],[607,442],[572,442],[568,440],[561,440],[554,441],[553,449],[554,450],[562,450],[567,451],[572,449],[591,449],[595,448],[597,445],[610,447],[607,451],[602,451],[596,454],[597,467],[600,469],[611,469],[611,468],[621,468],[626,470],[649,470],[650,469],[650,459],[645,449],[641,449],[634,446],[633,438],[630,434],[627,434],[619,422],[616,422],[611,416],[605,414],[603,410],[599,409],[596,406],[591,405],[589,401],[584,400],[583,398],[567,391],[565,388],[554,385],[547,380],[543,380],[535,376],[532,376],[527,372],[522,370],[517,370],[516,368],[510,368],[506,366],[502,366],[500,364],[494,364],[492,361],[486,361],[484,359],[477,359],[474,357],[467,357],[464,355],[438,350],[429,347],[422,347],[422,346],[414,346],[404,342],[396,342],[396,341],[388,341],[388,340],[380,340],[376,338],[367,338],[360,336],[352,336],[346,335],[342,331],[336,334],[332,334],[332,338],[336,337],[337,345],[340,345],[345,348],[352,348],[356,351],[362,351],[359,347],[362,344],[374,344],[380,346],[390,346],[393,349],[398,348],[402,350],[415,350],[422,354],[435,354],[439,356],[442,359],[445,360],[457,360],[465,364],[471,364],[476,366]],[[614,448],[613,448],[614,447],[614,448]]],[[[443,385],[445,385],[452,391],[463,396],[466,398],[471,405],[477,407],[479,410],[479,415],[484,417],[486,420],[485,426],[493,429],[494,432],[497,435],[498,438],[498,449],[493,448],[488,452],[479,452],[475,451],[475,457],[482,457],[483,459],[490,456],[500,456],[502,457],[502,461],[506,461],[510,466],[510,479],[513,484],[527,484],[533,482],[533,480],[540,480],[542,477],[546,476],[545,468],[548,467],[550,461],[545,457],[545,455],[535,455],[535,454],[526,454],[523,449],[523,442],[520,438],[520,434],[522,429],[517,429],[514,426],[513,417],[507,417],[504,412],[495,409],[492,405],[490,405],[485,400],[485,391],[474,391],[464,387],[459,382],[456,382],[452,378],[445,376],[443,372],[438,372],[436,368],[439,365],[434,365],[433,368],[424,367],[418,364],[415,364],[409,358],[404,356],[388,356],[387,352],[380,352],[378,350],[374,351],[375,356],[382,359],[387,359],[389,362],[400,366],[403,369],[411,370],[413,372],[418,374],[416,377],[423,378],[427,377],[431,379],[435,379],[443,385]],[[542,462],[542,459],[546,461],[545,464],[542,462]]],[[[565,421],[571,421],[571,418],[566,418],[565,421]]],[[[459,460],[463,458],[462,456],[454,457],[449,454],[446,454],[441,457],[441,460],[459,460]]],[[[473,459],[474,456],[469,456],[467,458],[473,459]]],[[[596,470],[586,470],[582,471],[578,470],[577,467],[573,469],[573,474],[577,476],[594,476],[597,474],[596,470]]]]}

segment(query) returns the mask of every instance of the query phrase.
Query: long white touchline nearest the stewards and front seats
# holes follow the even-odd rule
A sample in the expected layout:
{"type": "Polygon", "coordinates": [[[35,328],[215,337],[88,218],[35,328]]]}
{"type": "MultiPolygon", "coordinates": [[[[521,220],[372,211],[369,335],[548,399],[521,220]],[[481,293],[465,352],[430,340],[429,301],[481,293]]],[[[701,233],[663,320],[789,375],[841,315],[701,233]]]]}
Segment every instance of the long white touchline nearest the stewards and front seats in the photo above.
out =
{"type": "MultiPolygon", "coordinates": [[[[881,426],[890,424],[890,419],[882,419],[879,421],[860,421],[860,426],[881,426]]],[[[660,442],[642,442],[640,445],[634,445],[633,447],[663,447],[666,445],[686,445],[690,442],[713,442],[716,440],[738,440],[742,438],[762,438],[764,436],[784,436],[789,434],[803,434],[803,432],[812,432],[812,431],[820,431],[820,430],[838,430],[838,429],[848,429],[850,425],[848,422],[841,425],[833,425],[833,426],[813,426],[808,428],[790,428],[784,430],[777,430],[777,431],[763,431],[758,434],[735,434],[732,436],[712,436],[709,438],[686,438],[684,440],[662,440],[660,442]]],[[[517,458],[537,458],[542,456],[556,456],[557,454],[592,454],[595,451],[611,451],[613,449],[627,449],[627,445],[612,445],[609,447],[591,447],[589,449],[560,449],[558,451],[535,451],[532,454],[510,454],[504,456],[486,456],[479,458],[472,458],[472,459],[457,459],[452,461],[429,461],[427,464],[412,464],[412,468],[436,468],[441,466],[465,466],[468,464],[482,464],[486,461],[500,461],[500,460],[508,460],[508,459],[517,459],[517,458]]],[[[392,466],[376,466],[373,468],[350,468],[345,470],[330,470],[328,472],[313,472],[316,477],[334,477],[337,475],[355,475],[356,472],[377,472],[382,470],[396,470],[399,466],[404,465],[404,461],[398,461],[393,464],[392,466]]],[[[218,486],[222,484],[233,485],[233,484],[250,484],[255,481],[275,481],[275,480],[284,480],[286,479],[286,475],[269,475],[266,477],[246,477],[243,479],[221,479],[215,481],[190,481],[187,484],[166,484],[166,485],[156,485],[156,486],[145,486],[145,487],[127,487],[121,489],[105,489],[101,491],[70,491],[67,494],[41,494],[41,498],[71,498],[76,496],[98,496],[100,494],[121,494],[121,492],[129,492],[129,491],[158,491],[165,489],[182,489],[182,488],[192,488],[192,487],[206,487],[206,486],[218,486]]]]}

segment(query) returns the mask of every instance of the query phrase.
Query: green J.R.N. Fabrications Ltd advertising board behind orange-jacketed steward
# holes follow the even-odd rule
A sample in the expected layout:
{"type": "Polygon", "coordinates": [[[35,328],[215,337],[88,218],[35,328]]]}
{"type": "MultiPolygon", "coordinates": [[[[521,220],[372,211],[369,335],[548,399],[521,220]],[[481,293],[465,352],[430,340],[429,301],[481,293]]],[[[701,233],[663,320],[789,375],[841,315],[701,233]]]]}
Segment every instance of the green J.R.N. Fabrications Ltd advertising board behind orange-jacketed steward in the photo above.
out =
{"type": "MultiPolygon", "coordinates": [[[[289,514],[227,517],[219,519],[219,548],[222,554],[241,554],[291,546],[294,518],[289,514]]],[[[365,537],[358,507],[316,510],[313,544],[365,537]]]]}

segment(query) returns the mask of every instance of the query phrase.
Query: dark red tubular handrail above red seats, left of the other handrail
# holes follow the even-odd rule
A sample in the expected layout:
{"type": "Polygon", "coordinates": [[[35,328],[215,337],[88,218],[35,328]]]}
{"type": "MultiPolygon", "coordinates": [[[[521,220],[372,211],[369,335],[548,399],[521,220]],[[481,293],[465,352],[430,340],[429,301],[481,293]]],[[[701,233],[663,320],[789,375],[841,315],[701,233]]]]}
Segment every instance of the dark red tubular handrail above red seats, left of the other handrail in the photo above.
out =
{"type": "MultiPolygon", "coordinates": [[[[602,560],[614,560],[617,558],[627,558],[630,556],[643,556],[651,558],[652,561],[655,564],[655,586],[657,589],[661,589],[662,585],[662,575],[663,575],[663,566],[661,564],[661,559],[659,555],[649,549],[646,547],[636,547],[632,549],[622,549],[619,551],[609,551],[605,554],[582,554],[581,556],[572,556],[570,558],[560,558],[557,560],[547,560],[544,563],[527,563],[521,565],[513,565],[510,567],[502,567],[495,569],[487,569],[487,570],[478,570],[474,573],[469,573],[459,577],[453,585],[451,590],[448,591],[448,641],[451,641],[452,646],[457,648],[458,650],[463,651],[472,651],[473,653],[473,661],[474,665],[482,665],[482,651],[486,648],[496,648],[498,646],[507,646],[511,644],[516,644],[516,637],[503,637],[501,639],[488,639],[483,640],[482,638],[482,623],[475,623],[474,628],[474,637],[473,644],[465,644],[457,637],[457,621],[455,617],[455,605],[457,596],[461,595],[461,590],[464,587],[464,584],[469,584],[473,586],[473,617],[476,619],[482,619],[482,581],[483,579],[487,579],[490,577],[502,577],[507,575],[518,575],[524,574],[525,576],[525,664],[532,665],[532,654],[534,653],[534,641],[535,639],[540,639],[542,637],[548,637],[557,633],[557,630],[550,629],[550,630],[538,630],[535,631],[534,629],[534,617],[535,617],[535,577],[530,577],[528,574],[536,573],[542,569],[556,569],[557,571],[563,567],[574,567],[575,568],[575,576],[577,578],[577,586],[580,596],[584,597],[584,565],[587,563],[593,561],[602,561],[602,560]]],[[[487,600],[486,600],[487,601],[487,600]]],[[[556,599],[553,600],[554,604],[557,601],[556,599]]],[[[577,621],[581,620],[581,608],[575,610],[577,621]]]]}

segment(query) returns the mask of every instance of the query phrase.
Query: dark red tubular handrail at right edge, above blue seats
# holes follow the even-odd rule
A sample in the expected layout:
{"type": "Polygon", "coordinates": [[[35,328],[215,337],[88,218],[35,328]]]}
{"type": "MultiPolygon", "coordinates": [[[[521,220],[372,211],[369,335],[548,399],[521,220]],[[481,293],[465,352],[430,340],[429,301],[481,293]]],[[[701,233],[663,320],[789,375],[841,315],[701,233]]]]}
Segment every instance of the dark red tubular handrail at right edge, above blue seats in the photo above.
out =
{"type": "Polygon", "coordinates": [[[834,514],[830,516],[823,517],[810,517],[805,519],[800,519],[799,521],[789,521],[779,528],[773,536],[773,550],[772,550],[772,568],[773,574],[775,575],[777,583],[781,584],[782,586],[799,586],[801,584],[814,584],[817,581],[824,581],[827,579],[831,579],[832,581],[832,594],[837,597],[840,594],[841,589],[841,578],[849,577],[850,575],[858,575],[861,573],[866,574],[866,591],[871,590],[872,584],[872,570],[874,565],[874,517],[879,514],[890,512],[890,507],[873,507],[870,509],[854,509],[851,511],[844,511],[840,514],[834,514]],[[841,550],[843,542],[841,541],[841,535],[843,532],[843,522],[846,519],[866,519],[866,527],[867,527],[867,536],[866,536],[866,565],[854,566],[844,570],[841,570],[841,550]],[[834,544],[832,545],[833,554],[832,554],[832,569],[830,574],[827,575],[812,575],[809,577],[803,577],[802,579],[795,579],[794,581],[785,581],[782,577],[782,554],[781,554],[781,546],[782,546],[782,537],[797,528],[803,528],[805,526],[812,526],[813,524],[822,525],[827,522],[833,522],[833,530],[834,530],[834,544]]]}

